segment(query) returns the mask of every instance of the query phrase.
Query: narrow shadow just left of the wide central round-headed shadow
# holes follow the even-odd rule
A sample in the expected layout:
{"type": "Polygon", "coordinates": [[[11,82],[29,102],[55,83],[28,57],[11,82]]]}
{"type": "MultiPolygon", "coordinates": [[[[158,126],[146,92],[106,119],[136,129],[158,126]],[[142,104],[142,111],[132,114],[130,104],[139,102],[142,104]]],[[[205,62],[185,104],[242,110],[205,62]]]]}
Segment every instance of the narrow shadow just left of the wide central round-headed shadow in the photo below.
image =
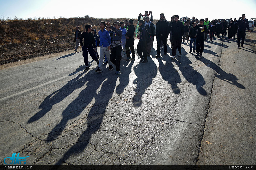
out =
{"type": "MultiPolygon", "coordinates": [[[[122,61],[121,61],[122,62],[122,61]]],[[[129,84],[129,75],[132,72],[132,65],[134,60],[130,60],[129,62],[125,62],[124,66],[122,66],[122,74],[119,75],[119,85],[116,87],[116,93],[121,94],[124,92],[124,88],[129,84]],[[129,64],[129,65],[128,65],[129,64]],[[128,67],[127,67],[128,65],[128,67]]]]}

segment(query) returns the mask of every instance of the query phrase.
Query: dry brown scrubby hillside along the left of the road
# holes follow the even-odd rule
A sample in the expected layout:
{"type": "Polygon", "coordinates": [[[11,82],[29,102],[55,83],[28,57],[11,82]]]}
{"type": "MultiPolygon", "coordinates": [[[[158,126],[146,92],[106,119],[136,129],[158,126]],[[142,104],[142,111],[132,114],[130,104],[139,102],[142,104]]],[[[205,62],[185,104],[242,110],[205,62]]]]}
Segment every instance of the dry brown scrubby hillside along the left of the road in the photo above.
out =
{"type": "MultiPolygon", "coordinates": [[[[96,19],[85,16],[68,19],[0,21],[0,64],[72,50],[75,48],[76,26],[84,32],[85,25],[91,24],[93,29],[99,31],[100,21],[113,23],[116,20],[125,21],[126,18],[96,19]]],[[[135,19],[134,26],[137,26],[135,19]]]]}

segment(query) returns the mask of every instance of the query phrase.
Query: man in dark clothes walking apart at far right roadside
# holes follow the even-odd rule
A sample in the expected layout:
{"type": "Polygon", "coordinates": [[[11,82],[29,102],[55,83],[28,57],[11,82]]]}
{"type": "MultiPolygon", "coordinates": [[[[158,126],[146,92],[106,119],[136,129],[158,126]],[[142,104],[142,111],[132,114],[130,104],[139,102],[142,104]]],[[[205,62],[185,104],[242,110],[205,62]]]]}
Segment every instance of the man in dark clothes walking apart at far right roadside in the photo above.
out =
{"type": "Polygon", "coordinates": [[[243,47],[244,39],[245,39],[245,30],[248,29],[248,32],[251,32],[249,28],[249,21],[245,19],[245,14],[242,14],[242,19],[239,19],[236,22],[238,27],[237,29],[237,48],[240,48],[240,39],[242,38],[241,47],[243,47]]]}

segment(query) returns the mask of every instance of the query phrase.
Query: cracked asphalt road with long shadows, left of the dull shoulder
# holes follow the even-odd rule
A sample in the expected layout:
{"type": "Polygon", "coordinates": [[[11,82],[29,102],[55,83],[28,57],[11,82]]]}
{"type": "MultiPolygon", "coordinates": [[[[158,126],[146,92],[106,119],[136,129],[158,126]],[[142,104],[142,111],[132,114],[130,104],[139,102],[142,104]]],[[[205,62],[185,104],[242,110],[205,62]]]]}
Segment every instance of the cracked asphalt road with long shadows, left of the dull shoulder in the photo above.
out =
{"type": "Polygon", "coordinates": [[[185,43],[176,60],[170,45],[156,59],[156,46],[148,63],[124,56],[117,76],[90,57],[83,72],[81,52],[0,70],[0,164],[20,153],[26,165],[196,165],[230,46],[206,41],[196,59],[185,43]]]}

